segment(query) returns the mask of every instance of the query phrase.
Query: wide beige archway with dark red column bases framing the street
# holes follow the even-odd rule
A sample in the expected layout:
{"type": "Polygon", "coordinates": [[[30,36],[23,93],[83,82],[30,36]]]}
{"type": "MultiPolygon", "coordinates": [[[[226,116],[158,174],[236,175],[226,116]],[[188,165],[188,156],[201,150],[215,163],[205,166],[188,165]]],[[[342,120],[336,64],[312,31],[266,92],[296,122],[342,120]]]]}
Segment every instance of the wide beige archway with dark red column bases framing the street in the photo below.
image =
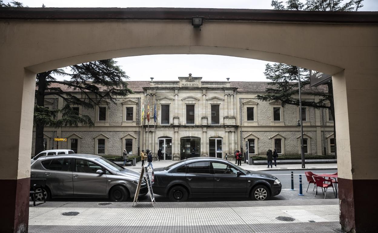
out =
{"type": "Polygon", "coordinates": [[[6,232],[28,227],[36,74],[151,54],[245,57],[332,74],[341,225],[356,232],[374,227],[377,12],[10,8],[0,9],[0,21],[0,185],[10,190],[0,221],[6,232]],[[191,25],[197,15],[204,16],[201,30],[191,25]]]}

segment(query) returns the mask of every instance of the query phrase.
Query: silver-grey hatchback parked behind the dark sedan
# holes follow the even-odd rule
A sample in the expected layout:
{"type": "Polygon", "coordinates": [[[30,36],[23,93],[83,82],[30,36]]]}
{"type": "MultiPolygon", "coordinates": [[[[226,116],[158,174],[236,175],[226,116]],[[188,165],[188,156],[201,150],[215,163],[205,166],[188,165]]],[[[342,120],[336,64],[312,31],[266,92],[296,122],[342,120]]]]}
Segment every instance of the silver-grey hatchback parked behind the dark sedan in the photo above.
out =
{"type": "MultiPolygon", "coordinates": [[[[139,176],[139,172],[91,154],[43,156],[31,165],[31,179],[46,179],[46,199],[91,197],[126,201],[135,196],[139,176]]],[[[147,192],[143,180],[139,196],[147,192]]]]}

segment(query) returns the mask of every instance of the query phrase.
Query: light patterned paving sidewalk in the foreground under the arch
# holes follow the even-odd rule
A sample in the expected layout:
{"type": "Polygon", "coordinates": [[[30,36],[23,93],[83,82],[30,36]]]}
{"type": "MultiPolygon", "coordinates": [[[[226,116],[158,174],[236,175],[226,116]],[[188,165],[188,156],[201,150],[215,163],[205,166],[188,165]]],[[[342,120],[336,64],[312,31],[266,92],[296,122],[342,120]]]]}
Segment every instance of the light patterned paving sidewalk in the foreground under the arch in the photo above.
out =
{"type": "Polygon", "coordinates": [[[343,232],[337,199],[100,203],[31,203],[29,232],[343,232]],[[77,215],[62,215],[70,212],[77,215]]]}

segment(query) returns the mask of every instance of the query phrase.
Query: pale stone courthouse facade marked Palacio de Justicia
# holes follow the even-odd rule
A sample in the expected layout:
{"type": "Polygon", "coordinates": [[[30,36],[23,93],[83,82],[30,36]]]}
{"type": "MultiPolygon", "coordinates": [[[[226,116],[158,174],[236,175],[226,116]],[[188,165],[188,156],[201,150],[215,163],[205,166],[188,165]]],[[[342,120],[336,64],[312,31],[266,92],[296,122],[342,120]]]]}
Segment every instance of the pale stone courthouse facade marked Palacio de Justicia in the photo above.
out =
{"type": "MultiPolygon", "coordinates": [[[[189,77],[178,77],[177,81],[128,81],[134,94],[116,97],[116,104],[102,102],[95,109],[73,106],[80,114],[89,115],[94,127],[45,127],[45,149],[56,148],[53,139],[61,137],[67,138],[67,142],[59,142],[59,149],[108,156],[121,156],[123,149],[137,155],[139,150],[147,148],[153,153],[161,148],[165,160],[193,157],[193,150],[195,156],[222,158],[233,155],[235,150],[247,151],[251,156],[265,155],[266,150],[273,148],[282,155],[301,154],[299,107],[257,100],[256,95],[265,93],[268,82],[201,79],[189,74],[189,77]]],[[[327,92],[327,87],[304,88],[302,99],[317,100],[319,97],[311,95],[314,91],[327,92]]],[[[77,92],[77,96],[81,94],[77,92]]],[[[45,99],[45,107],[50,109],[62,108],[64,104],[58,96],[45,99]]],[[[330,112],[303,107],[302,116],[305,155],[334,153],[330,112]]],[[[33,154],[34,140],[35,137],[33,154]]]]}

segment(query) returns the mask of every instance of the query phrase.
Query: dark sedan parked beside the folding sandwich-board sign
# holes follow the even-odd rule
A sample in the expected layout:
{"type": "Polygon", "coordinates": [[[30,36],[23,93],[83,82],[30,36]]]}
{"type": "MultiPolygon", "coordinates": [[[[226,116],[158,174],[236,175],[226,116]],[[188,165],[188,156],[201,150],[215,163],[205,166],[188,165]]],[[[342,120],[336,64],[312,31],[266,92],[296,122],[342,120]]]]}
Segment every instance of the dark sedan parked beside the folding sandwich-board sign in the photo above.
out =
{"type": "Polygon", "coordinates": [[[153,193],[175,202],[192,197],[251,197],[263,201],[280,194],[281,188],[275,176],[247,171],[219,158],[184,159],[152,172],[153,193]]]}

